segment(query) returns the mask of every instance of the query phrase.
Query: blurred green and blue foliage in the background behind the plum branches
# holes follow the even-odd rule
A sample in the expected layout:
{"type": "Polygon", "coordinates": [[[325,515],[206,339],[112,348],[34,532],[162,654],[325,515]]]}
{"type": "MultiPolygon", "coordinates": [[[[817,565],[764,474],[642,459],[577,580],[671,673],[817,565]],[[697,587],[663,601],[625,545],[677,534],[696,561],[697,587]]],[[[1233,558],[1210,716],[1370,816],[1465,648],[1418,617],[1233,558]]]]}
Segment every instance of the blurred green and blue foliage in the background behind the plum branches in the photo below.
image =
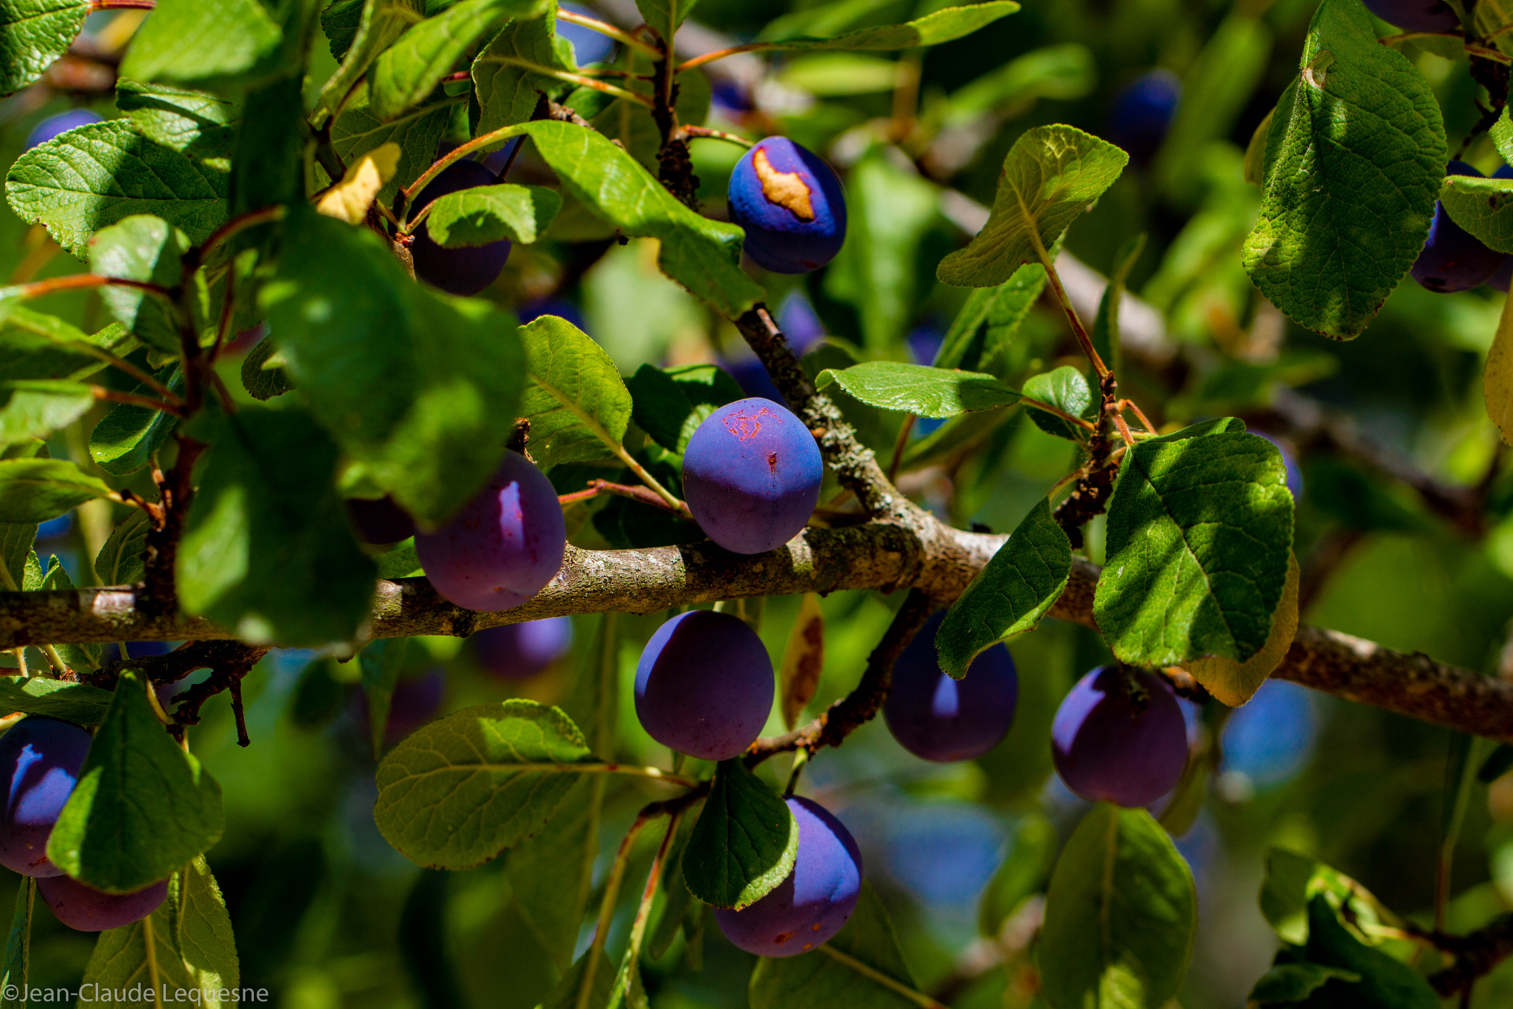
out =
{"type": "MultiPolygon", "coordinates": [[[[701,0],[681,38],[702,51],[750,39],[778,17],[825,18],[840,30],[943,6],[701,0]]],[[[629,3],[605,0],[589,9],[634,23],[629,3]]],[[[784,328],[817,371],[861,359],[932,360],[967,296],[935,281],[935,263],[980,221],[973,203],[991,203],[1014,139],[1044,123],[1114,136],[1120,89],[1154,68],[1174,74],[1183,98],[1167,142],[1126,171],[1065,239],[1065,251],[1108,274],[1126,242],[1147,236],[1129,289],[1157,310],[1153,318],[1163,322],[1157,328],[1176,352],[1160,359],[1126,348],[1126,390],[1159,424],[1233,411],[1297,454],[1304,619],[1507,675],[1513,473],[1496,466],[1498,439],[1480,393],[1501,298],[1484,287],[1436,295],[1409,281],[1365,336],[1334,343],[1286,322],[1241,269],[1241,241],[1259,203],[1257,189],[1244,180],[1244,150],[1297,71],[1312,14],[1309,0],[1027,0],[1020,14],[927,53],[714,64],[708,73],[685,74],[684,103],[694,116],[707,104],[707,123],[717,129],[788,135],[843,172],[852,222],[841,256],[808,277],[763,277],[784,328]],[[1289,389],[1341,411],[1434,480],[1477,489],[1486,502],[1481,528],[1446,522],[1403,483],[1289,428],[1278,411],[1289,389]]],[[[85,42],[103,53],[118,50],[136,18],[92,15],[85,42]]],[[[578,44],[586,41],[579,36],[578,44]]],[[[1483,92],[1466,62],[1409,54],[1440,98],[1456,150],[1483,92]]],[[[109,68],[109,59],[100,65],[109,68]]],[[[316,45],[312,95],[330,70],[324,45],[316,45]]],[[[0,157],[12,162],[39,120],[80,104],[115,115],[109,82],[53,80],[6,100],[0,157]]],[[[616,107],[601,113],[598,126],[632,151],[648,151],[649,121],[616,107]]],[[[451,139],[461,139],[466,116],[454,118],[451,130],[451,139]]],[[[693,156],[705,213],[723,216],[725,180],[740,148],[699,139],[693,156]]],[[[1487,174],[1498,166],[1486,138],[1466,159],[1487,174]]],[[[525,150],[511,180],[549,183],[551,172],[525,150]]],[[[0,275],[18,281],[77,269],[54,253],[39,228],[0,212],[0,275]]],[[[486,296],[522,316],[572,318],[626,375],[645,363],[716,362],[749,392],[764,389],[734,330],[657,272],[649,241],[619,245],[572,207],[549,241],[516,247],[486,296]]],[[[56,295],[45,307],[89,331],[106,319],[92,293],[56,295]]],[[[242,351],[254,339],[244,340],[242,351]]],[[[1042,303],[990,369],[1018,384],[1061,363],[1076,365],[1074,354],[1065,322],[1042,303]]],[[[239,359],[231,355],[224,368],[227,386],[241,395],[239,359]]],[[[100,378],[109,381],[109,374],[100,378]]],[[[846,407],[868,445],[890,458],[900,418],[855,401],[846,407]]],[[[53,454],[88,458],[85,439],[97,419],[91,414],[56,439],[53,454]]],[[[943,428],[920,424],[905,437],[903,487],[961,526],[1012,528],[1074,464],[1071,445],[1014,411],[971,414],[943,428]]],[[[676,460],[632,427],[631,446],[643,442],[638,451],[654,472],[676,472],[676,460]]],[[[552,480],[566,493],[595,475],[613,472],[561,466],[552,480]]],[[[110,528],[109,507],[94,502],[50,523],[38,551],[57,554],[76,582],[94,581],[89,558],[110,528]]],[[[663,513],[617,498],[575,505],[569,528],[573,542],[590,548],[670,543],[690,534],[663,513]]],[[[1098,560],[1095,532],[1089,551],[1098,560]]],[[[787,649],[799,604],[785,598],[743,608],[760,623],[775,661],[787,649]]],[[[811,713],[855,684],[897,604],[879,593],[835,593],[820,604],[825,658],[811,713]]],[[[592,675],[604,654],[626,684],[664,617],[573,617],[570,650],[525,681],[490,673],[461,641],[421,640],[402,670],[389,738],[481,700],[567,703],[575,676],[592,675]],[[611,644],[598,649],[605,634],[611,644]]],[[[959,1009],[1032,1004],[1026,944],[1038,921],[1035,894],[1058,840],[1083,809],[1050,775],[1049,725],[1070,684],[1106,657],[1094,634],[1056,622],[1011,650],[1021,678],[1017,722],[980,761],[926,764],[873,723],[806,771],[805,790],[861,843],[867,876],[890,905],[921,986],[959,1009]]],[[[191,732],[195,753],[225,793],[225,840],[210,862],[236,926],[244,982],[268,986],[290,1009],[534,1006],[557,968],[539,952],[530,909],[514,899],[516,888],[531,883],[511,874],[516,855],[442,874],[418,870],[378,835],[360,678],[360,660],[274,652],[244,687],[251,747],[235,746],[224,696],[191,732]]],[[[1451,734],[1283,682],[1268,684],[1233,713],[1213,702],[1188,711],[1195,752],[1207,753],[1210,773],[1200,776],[1200,802],[1168,818],[1197,876],[1201,918],[1182,1006],[1242,1006],[1271,962],[1277,938],[1256,903],[1269,846],[1316,855],[1398,912],[1430,920],[1449,794],[1446,756],[1457,746],[1451,734]]],[[[782,731],[776,713],[769,731],[782,731]]],[[[669,761],[629,703],[620,705],[617,749],[626,761],[669,761]]],[[[778,781],[785,764],[772,761],[763,771],[778,781]]],[[[613,782],[599,824],[596,885],[634,811],[658,794],[654,785],[613,782]]],[[[1513,909],[1513,778],[1472,785],[1452,847],[1451,927],[1475,927],[1513,909]]],[[[629,879],[645,873],[649,858],[649,849],[637,853],[629,879]]],[[[625,888],[610,938],[614,956],[637,897],[637,886],[625,888]]],[[[33,983],[77,983],[92,936],[56,926],[45,914],[33,935],[33,983]]],[[[579,950],[587,941],[586,930],[579,950]]],[[[749,968],[750,959],[710,927],[702,939],[675,941],[646,982],[658,1009],[735,1009],[746,1004],[749,968]]],[[[1510,1000],[1513,967],[1504,965],[1478,986],[1475,1004],[1510,1000]]]]}

